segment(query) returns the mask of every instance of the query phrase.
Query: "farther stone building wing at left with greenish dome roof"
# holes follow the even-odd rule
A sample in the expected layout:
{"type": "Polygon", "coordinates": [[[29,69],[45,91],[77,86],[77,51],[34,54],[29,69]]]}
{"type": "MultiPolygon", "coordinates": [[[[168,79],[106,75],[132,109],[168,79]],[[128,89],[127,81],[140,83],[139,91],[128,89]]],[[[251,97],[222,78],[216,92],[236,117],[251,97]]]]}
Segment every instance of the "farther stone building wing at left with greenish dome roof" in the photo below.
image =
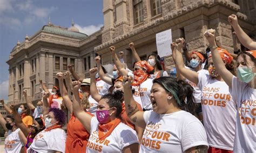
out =
{"type": "Polygon", "coordinates": [[[67,71],[69,64],[80,77],[88,76],[89,69],[95,65],[94,47],[101,42],[100,30],[87,36],[53,24],[43,26],[31,38],[26,36],[23,43],[17,43],[7,61],[9,103],[25,102],[24,89],[36,103],[42,98],[39,78],[51,89],[58,85],[56,73],[67,71]]]}

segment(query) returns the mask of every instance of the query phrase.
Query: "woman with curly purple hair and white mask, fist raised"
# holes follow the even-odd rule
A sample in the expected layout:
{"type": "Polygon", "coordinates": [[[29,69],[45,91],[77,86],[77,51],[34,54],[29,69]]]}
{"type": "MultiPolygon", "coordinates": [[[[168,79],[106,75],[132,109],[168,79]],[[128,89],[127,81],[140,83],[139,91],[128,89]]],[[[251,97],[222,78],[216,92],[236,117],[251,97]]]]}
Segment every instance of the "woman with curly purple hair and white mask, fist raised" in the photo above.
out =
{"type": "Polygon", "coordinates": [[[66,133],[62,126],[65,125],[66,115],[61,109],[49,109],[49,96],[49,92],[43,96],[45,129],[33,139],[28,152],[65,152],[66,133]]]}

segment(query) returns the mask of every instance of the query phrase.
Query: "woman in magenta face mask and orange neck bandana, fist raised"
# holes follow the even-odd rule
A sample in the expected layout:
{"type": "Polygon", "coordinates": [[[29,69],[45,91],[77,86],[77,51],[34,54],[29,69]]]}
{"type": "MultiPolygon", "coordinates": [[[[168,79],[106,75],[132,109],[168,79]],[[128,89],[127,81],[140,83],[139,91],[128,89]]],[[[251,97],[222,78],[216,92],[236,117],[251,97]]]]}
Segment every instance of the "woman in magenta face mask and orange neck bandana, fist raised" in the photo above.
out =
{"type": "Polygon", "coordinates": [[[122,95],[103,95],[98,102],[97,117],[92,117],[82,109],[78,94],[80,85],[79,81],[73,82],[73,112],[91,134],[86,152],[138,152],[136,131],[119,119],[122,112],[122,95]]]}

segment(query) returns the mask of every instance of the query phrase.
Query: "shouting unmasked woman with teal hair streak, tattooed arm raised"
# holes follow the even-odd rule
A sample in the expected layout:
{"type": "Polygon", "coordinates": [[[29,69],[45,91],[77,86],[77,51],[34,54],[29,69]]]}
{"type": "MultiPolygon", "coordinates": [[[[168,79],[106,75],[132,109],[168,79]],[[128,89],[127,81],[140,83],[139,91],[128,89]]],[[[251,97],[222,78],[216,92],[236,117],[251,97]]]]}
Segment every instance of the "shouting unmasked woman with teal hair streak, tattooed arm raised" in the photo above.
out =
{"type": "Polygon", "coordinates": [[[131,77],[123,78],[126,113],[133,124],[145,129],[140,152],[207,152],[203,124],[182,110],[188,98],[180,96],[184,95],[184,84],[171,77],[154,79],[150,94],[153,110],[142,112],[132,96],[131,77]]]}

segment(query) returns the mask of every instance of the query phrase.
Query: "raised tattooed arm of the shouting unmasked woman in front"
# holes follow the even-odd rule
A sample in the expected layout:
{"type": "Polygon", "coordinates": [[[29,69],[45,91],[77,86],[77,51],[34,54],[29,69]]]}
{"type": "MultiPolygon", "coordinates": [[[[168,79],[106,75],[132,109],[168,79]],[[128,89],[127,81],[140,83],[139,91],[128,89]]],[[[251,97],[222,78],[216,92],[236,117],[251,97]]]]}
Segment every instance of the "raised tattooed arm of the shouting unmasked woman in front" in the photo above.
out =
{"type": "Polygon", "coordinates": [[[129,116],[133,124],[145,129],[146,123],[143,118],[144,112],[139,111],[137,107],[137,103],[133,99],[133,95],[131,91],[132,79],[131,77],[127,77],[126,75],[123,76],[123,79],[124,79],[123,81],[124,101],[125,101],[125,110],[126,110],[127,116],[129,116]]]}

